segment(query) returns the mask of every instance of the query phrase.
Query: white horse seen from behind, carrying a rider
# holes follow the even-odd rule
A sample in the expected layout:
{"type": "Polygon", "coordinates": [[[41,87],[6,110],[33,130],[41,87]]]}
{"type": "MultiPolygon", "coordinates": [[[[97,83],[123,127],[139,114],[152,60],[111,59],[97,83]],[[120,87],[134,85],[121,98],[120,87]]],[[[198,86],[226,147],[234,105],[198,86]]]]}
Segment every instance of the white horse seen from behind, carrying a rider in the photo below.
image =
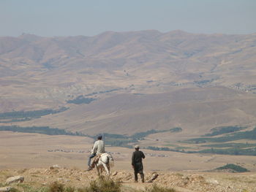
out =
{"type": "Polygon", "coordinates": [[[98,174],[101,174],[104,168],[108,175],[110,175],[110,167],[112,167],[113,165],[113,157],[108,153],[102,153],[100,155],[99,161],[97,162],[97,164],[95,164],[98,174]]]}

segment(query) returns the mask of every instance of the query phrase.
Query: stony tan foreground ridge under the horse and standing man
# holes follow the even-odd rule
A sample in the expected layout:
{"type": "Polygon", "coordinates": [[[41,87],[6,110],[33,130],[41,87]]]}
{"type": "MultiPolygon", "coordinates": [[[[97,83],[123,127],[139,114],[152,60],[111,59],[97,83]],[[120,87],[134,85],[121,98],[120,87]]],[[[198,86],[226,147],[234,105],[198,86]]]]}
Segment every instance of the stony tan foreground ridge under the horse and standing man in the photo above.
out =
{"type": "MultiPolygon", "coordinates": [[[[158,177],[148,183],[156,173],[146,172],[146,183],[134,183],[132,172],[116,171],[111,174],[113,180],[122,183],[124,191],[148,188],[151,185],[174,188],[179,192],[207,191],[207,192],[255,192],[256,174],[235,174],[224,172],[158,172],[158,177]]],[[[0,186],[7,185],[7,179],[13,176],[24,177],[23,185],[35,187],[49,185],[55,181],[75,188],[83,188],[90,181],[97,179],[95,170],[86,172],[79,169],[67,169],[59,166],[48,169],[7,169],[0,171],[0,186]]],[[[17,188],[17,183],[9,186],[17,188]]]]}

